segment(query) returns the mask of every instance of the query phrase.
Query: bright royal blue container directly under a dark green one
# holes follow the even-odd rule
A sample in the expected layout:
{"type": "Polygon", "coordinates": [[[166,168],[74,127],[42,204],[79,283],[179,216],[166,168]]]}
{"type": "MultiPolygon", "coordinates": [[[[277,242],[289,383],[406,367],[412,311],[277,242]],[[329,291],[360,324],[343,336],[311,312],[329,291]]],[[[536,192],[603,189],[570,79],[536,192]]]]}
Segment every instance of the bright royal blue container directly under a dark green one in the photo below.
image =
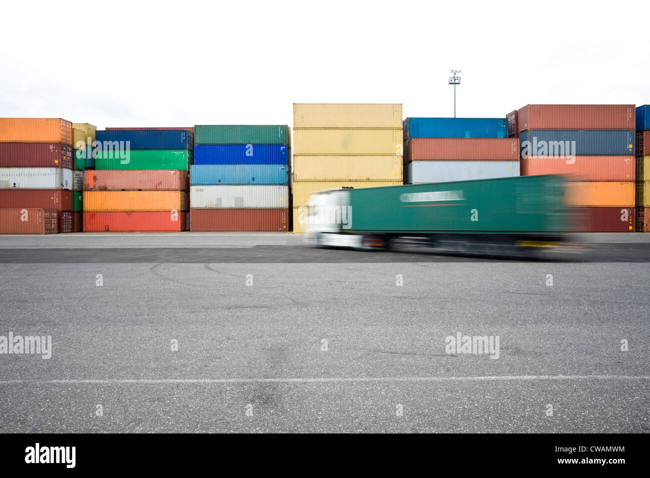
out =
{"type": "Polygon", "coordinates": [[[284,144],[197,144],[195,165],[288,165],[284,144]]]}

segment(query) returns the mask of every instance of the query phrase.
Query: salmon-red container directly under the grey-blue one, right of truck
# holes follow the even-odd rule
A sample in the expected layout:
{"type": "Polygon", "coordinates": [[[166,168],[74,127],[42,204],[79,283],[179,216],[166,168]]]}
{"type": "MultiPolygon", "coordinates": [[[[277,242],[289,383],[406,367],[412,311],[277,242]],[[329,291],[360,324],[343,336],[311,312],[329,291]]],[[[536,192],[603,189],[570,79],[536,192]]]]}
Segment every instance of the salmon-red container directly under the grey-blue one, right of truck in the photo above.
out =
{"type": "Polygon", "coordinates": [[[519,161],[519,172],[521,176],[565,174],[573,181],[634,181],[634,164],[634,156],[528,157],[519,161]]]}

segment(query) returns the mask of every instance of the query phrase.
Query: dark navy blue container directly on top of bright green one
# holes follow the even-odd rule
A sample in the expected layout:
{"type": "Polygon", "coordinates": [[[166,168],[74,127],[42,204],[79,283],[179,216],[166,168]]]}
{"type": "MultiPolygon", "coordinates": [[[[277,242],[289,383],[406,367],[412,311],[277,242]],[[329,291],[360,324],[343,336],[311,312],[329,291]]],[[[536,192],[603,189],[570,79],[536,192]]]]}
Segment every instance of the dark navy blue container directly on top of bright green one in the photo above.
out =
{"type": "Polygon", "coordinates": [[[149,129],[97,131],[95,139],[104,141],[129,141],[132,150],[191,150],[194,133],[185,129],[149,129]]]}

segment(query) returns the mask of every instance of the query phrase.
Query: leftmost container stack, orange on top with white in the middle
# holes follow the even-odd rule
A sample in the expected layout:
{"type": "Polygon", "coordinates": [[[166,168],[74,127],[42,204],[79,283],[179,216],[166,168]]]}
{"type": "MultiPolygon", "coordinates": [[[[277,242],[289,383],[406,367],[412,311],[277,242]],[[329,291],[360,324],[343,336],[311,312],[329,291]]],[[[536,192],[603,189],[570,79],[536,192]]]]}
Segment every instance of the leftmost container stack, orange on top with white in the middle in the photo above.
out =
{"type": "Polygon", "coordinates": [[[3,233],[72,232],[72,168],[72,123],[0,118],[3,233]]]}

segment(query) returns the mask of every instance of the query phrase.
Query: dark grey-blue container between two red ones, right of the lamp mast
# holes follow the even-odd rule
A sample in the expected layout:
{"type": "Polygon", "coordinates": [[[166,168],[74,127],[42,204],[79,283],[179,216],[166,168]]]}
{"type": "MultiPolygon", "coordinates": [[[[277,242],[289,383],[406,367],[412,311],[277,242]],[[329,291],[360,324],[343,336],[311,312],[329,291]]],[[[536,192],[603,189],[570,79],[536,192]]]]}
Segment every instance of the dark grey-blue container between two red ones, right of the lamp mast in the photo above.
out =
{"type": "Polygon", "coordinates": [[[526,130],[519,133],[519,148],[521,157],[632,156],[634,155],[634,131],[631,129],[526,130]]]}

